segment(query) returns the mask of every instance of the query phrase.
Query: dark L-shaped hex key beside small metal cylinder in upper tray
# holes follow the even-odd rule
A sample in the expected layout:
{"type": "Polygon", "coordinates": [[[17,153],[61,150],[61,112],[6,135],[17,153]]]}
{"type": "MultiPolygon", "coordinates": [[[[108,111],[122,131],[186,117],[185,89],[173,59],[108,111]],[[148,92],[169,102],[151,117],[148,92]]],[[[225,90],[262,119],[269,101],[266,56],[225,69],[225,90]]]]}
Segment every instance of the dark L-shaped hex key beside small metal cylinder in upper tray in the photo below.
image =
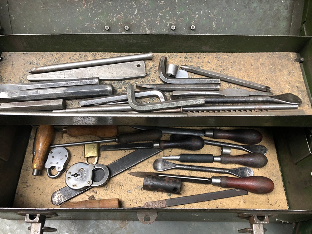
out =
{"type": "Polygon", "coordinates": [[[193,79],[172,79],[166,75],[167,58],[162,56],[158,65],[158,74],[160,79],[169,84],[220,84],[220,79],[193,78],[193,79]]]}

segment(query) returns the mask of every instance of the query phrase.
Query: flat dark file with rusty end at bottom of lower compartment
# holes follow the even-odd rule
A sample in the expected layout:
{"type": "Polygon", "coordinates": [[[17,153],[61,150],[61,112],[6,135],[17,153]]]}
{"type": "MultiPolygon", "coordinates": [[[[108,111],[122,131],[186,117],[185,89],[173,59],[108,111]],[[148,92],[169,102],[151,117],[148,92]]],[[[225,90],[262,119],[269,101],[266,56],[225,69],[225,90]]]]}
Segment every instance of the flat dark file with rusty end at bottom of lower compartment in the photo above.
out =
{"type": "Polygon", "coordinates": [[[196,202],[206,202],[228,197],[237,197],[247,195],[248,192],[242,189],[228,189],[212,193],[202,193],[185,197],[175,197],[153,202],[146,202],[143,207],[145,208],[164,208],[178,205],[186,205],[196,202]]]}

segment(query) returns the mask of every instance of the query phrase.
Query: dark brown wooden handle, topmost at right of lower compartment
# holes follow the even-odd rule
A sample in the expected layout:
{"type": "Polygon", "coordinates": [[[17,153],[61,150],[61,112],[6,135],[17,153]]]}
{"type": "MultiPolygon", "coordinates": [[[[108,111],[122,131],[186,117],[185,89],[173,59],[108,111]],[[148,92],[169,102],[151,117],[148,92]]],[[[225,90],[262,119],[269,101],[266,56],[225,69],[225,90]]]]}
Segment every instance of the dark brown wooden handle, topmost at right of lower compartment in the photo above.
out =
{"type": "Polygon", "coordinates": [[[243,144],[254,145],[262,141],[262,134],[255,129],[213,129],[213,138],[228,139],[243,144]]]}

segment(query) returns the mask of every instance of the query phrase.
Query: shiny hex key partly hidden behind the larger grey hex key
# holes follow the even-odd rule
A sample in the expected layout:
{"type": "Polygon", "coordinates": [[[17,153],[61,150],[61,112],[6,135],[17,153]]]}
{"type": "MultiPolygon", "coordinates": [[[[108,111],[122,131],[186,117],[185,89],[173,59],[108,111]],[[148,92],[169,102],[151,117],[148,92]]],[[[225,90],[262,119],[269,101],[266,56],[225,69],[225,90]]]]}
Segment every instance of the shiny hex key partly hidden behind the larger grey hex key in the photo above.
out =
{"type": "MultiPolygon", "coordinates": [[[[157,97],[161,102],[166,101],[166,95],[160,91],[155,89],[150,90],[139,90],[134,92],[135,98],[144,98],[144,97],[157,97]]],[[[80,101],[81,106],[89,106],[89,105],[99,105],[105,104],[109,102],[118,102],[128,100],[127,94],[119,94],[119,95],[111,95],[107,97],[96,98],[92,100],[80,101]]]]}

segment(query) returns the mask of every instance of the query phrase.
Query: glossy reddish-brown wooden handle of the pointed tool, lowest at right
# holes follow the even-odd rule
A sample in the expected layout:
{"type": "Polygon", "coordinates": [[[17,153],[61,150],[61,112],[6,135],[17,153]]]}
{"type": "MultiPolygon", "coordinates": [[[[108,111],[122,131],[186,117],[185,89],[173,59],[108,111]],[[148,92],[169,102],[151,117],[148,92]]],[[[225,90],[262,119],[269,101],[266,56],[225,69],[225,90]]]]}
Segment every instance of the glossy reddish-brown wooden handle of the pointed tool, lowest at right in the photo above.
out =
{"type": "Polygon", "coordinates": [[[271,193],[274,189],[273,181],[264,176],[249,176],[243,178],[220,176],[220,178],[220,187],[222,188],[239,188],[258,194],[271,193]]]}

